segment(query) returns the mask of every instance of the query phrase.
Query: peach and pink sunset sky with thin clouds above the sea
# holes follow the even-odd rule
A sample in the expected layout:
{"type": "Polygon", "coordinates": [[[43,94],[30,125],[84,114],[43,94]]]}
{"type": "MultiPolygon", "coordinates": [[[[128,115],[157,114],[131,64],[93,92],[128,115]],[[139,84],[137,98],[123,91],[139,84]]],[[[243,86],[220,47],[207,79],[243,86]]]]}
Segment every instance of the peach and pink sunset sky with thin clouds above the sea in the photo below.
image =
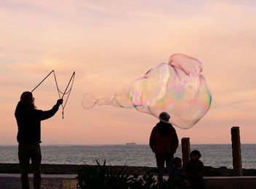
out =
{"type": "MultiPolygon", "coordinates": [[[[95,105],[84,93],[111,97],[175,53],[195,57],[212,93],[206,116],[176,128],[191,144],[256,143],[256,1],[0,0],[0,145],[17,144],[20,94],[54,70],[65,106],[41,123],[44,145],[148,144],[159,121],[134,108],[95,105]],[[67,96],[64,97],[64,101],[67,96]]],[[[38,109],[59,98],[51,74],[34,92],[38,109]]]]}

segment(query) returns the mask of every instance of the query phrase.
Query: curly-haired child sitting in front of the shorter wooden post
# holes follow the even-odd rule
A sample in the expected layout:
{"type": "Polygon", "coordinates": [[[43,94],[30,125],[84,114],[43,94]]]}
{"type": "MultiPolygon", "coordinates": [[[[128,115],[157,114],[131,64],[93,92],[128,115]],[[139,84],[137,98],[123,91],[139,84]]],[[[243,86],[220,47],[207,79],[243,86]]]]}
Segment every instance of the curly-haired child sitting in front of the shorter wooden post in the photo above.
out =
{"type": "Polygon", "coordinates": [[[201,153],[199,150],[193,150],[190,153],[190,161],[185,165],[185,174],[188,176],[188,182],[191,188],[204,188],[204,164],[199,160],[201,153]]]}

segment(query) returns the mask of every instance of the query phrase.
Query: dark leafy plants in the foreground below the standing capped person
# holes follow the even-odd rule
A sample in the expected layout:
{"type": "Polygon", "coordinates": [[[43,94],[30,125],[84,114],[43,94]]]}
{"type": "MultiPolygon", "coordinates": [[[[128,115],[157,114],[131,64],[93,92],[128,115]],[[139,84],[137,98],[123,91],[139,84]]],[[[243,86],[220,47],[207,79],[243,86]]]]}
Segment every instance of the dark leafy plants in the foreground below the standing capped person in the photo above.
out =
{"type": "Polygon", "coordinates": [[[165,189],[165,188],[188,188],[185,177],[178,175],[169,180],[157,182],[155,176],[148,172],[143,176],[138,174],[129,174],[126,172],[127,166],[121,169],[113,169],[112,166],[103,165],[97,161],[97,166],[84,164],[79,169],[78,188],[81,189],[165,189]]]}

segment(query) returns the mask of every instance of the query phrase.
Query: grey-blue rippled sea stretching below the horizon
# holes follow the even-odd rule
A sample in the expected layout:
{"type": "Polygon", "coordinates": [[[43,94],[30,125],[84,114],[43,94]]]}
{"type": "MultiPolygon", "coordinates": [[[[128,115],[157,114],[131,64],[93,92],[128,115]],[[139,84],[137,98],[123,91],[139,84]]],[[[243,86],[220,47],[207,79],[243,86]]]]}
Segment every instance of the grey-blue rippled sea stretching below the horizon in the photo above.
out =
{"type": "MultiPolygon", "coordinates": [[[[233,168],[231,145],[191,145],[201,152],[205,166],[233,168]]],[[[18,163],[17,145],[0,145],[0,163],[18,163]]],[[[89,164],[156,167],[148,145],[41,145],[42,164],[89,164]]],[[[241,145],[242,166],[256,169],[256,145],[241,145]]],[[[175,156],[181,157],[181,147],[175,156]]]]}

